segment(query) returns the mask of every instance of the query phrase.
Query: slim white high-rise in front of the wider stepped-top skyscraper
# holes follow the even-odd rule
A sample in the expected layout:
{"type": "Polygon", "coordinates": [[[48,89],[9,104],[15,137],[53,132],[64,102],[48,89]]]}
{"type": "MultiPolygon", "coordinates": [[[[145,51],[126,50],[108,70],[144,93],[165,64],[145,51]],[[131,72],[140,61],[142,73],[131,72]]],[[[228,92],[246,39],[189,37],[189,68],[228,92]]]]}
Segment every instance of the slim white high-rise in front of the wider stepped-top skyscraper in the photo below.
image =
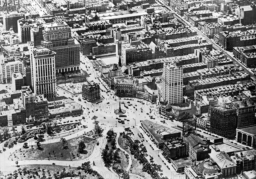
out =
{"type": "Polygon", "coordinates": [[[37,95],[53,98],[56,95],[55,52],[43,47],[33,48],[30,64],[32,87],[37,95]]]}

